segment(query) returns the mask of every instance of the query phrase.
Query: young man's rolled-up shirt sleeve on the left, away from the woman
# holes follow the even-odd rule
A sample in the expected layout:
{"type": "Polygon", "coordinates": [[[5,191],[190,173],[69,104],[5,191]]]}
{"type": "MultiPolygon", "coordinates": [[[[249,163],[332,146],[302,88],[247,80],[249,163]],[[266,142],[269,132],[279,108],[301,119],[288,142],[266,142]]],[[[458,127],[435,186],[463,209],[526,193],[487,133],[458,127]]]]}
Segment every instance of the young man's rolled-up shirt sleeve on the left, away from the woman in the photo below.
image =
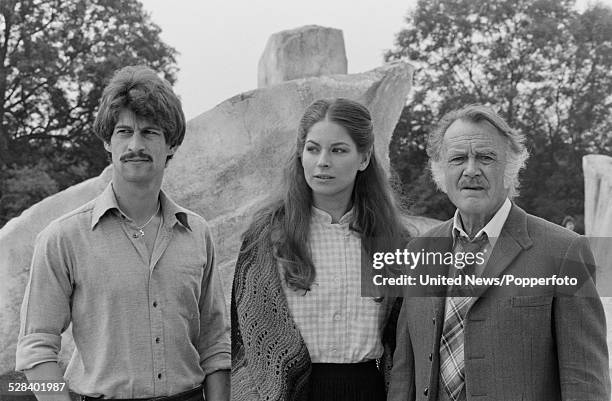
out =
{"type": "Polygon", "coordinates": [[[16,370],[58,360],[61,334],[70,323],[69,258],[53,226],[37,238],[21,306],[16,370]]]}

